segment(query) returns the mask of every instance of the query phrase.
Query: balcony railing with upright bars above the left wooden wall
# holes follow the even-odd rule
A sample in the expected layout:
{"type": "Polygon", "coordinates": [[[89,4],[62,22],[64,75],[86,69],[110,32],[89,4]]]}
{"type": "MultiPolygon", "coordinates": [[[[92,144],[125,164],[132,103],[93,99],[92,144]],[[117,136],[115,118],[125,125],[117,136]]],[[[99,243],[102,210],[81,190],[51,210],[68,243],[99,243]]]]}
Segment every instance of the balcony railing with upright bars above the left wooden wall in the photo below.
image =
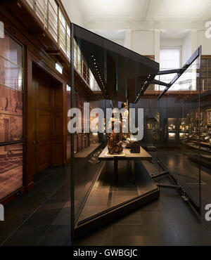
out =
{"type": "MultiPolygon", "coordinates": [[[[70,22],[65,18],[62,8],[56,0],[26,0],[44,29],[48,30],[53,39],[70,60],[70,22]]],[[[74,65],[77,72],[84,78],[92,91],[101,91],[87,66],[82,53],[74,41],[74,65]]]]}

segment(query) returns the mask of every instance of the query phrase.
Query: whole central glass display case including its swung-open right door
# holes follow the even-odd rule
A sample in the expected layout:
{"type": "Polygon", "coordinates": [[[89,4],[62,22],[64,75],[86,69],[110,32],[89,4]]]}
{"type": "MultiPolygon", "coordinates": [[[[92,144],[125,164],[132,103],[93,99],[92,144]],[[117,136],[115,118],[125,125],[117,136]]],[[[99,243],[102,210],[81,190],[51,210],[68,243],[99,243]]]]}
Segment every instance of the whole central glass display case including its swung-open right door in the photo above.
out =
{"type": "Polygon", "coordinates": [[[79,108],[70,116],[75,129],[70,133],[73,239],[150,203],[159,197],[160,187],[176,188],[200,213],[200,160],[203,143],[206,149],[210,145],[211,109],[207,105],[203,112],[201,107],[200,48],[166,84],[155,80],[164,72],[153,60],[77,25],[72,24],[71,31],[72,46],[77,44],[101,89],[98,95],[79,99],[72,51],[70,108],[79,108]],[[175,82],[194,91],[166,95],[175,82]],[[151,84],[165,86],[158,99],[143,98],[151,84]],[[121,129],[117,135],[115,124],[121,129]],[[164,175],[174,185],[154,181],[164,175]]]}

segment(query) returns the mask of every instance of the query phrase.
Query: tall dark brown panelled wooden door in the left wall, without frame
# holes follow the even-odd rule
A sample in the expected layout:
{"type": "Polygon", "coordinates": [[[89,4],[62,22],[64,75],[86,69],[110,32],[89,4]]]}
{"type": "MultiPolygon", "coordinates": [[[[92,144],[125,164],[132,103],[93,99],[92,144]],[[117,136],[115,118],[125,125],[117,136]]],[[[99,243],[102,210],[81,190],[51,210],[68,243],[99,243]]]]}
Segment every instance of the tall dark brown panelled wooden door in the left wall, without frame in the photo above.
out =
{"type": "Polygon", "coordinates": [[[63,84],[33,67],[34,171],[63,164],[63,84]]]}

